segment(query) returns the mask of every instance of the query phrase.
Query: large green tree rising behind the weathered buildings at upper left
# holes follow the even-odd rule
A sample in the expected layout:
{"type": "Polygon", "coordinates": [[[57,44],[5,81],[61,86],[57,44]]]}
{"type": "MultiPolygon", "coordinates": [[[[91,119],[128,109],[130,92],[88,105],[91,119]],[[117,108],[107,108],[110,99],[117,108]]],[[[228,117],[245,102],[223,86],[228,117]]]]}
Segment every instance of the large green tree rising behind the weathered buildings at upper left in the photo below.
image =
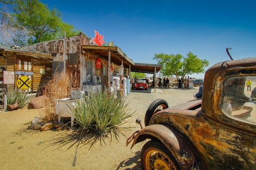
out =
{"type": "Polygon", "coordinates": [[[11,12],[4,11],[4,8],[0,9],[1,19],[11,16],[5,22],[8,23],[7,26],[10,29],[19,26],[28,32],[26,34],[28,38],[25,42],[24,38],[21,37],[22,34],[11,37],[10,41],[15,42],[16,45],[22,46],[58,39],[64,36],[64,32],[66,32],[66,36],[79,34],[79,31],[74,29],[72,24],[62,21],[62,14],[57,8],[49,9],[47,4],[43,4],[39,0],[0,0],[0,2],[5,7],[11,8],[11,12]]]}

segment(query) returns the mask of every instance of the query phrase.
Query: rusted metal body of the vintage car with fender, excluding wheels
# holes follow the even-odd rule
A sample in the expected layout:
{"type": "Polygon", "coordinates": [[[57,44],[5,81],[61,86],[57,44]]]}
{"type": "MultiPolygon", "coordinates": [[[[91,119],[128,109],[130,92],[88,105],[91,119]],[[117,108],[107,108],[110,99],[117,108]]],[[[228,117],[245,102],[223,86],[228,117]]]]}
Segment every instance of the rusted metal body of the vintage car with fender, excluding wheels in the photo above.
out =
{"type": "Polygon", "coordinates": [[[149,126],[134,134],[132,147],[147,138],[160,141],[184,170],[255,170],[256,122],[251,117],[256,113],[256,101],[244,93],[248,76],[254,77],[255,82],[256,58],[223,62],[209,68],[205,74],[202,101],[189,101],[158,111],[150,119],[149,126]],[[236,89],[232,90],[234,98],[231,99],[235,101],[231,101],[231,113],[223,110],[222,105],[228,99],[229,86],[236,89]],[[236,99],[243,105],[237,107],[236,99]],[[246,112],[248,104],[252,108],[246,112]],[[245,112],[249,116],[236,118],[232,116],[234,112],[245,112]],[[177,140],[172,134],[182,137],[177,140]],[[177,154],[184,144],[188,146],[184,151],[191,151],[194,156],[177,154]],[[191,168],[187,160],[198,166],[191,168]]]}

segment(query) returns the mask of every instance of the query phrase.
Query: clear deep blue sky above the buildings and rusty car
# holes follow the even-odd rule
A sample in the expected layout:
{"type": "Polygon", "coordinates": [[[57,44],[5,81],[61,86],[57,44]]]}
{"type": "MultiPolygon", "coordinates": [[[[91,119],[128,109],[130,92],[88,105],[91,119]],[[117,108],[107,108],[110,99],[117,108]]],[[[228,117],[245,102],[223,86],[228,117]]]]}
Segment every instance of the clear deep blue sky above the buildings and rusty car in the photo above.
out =
{"type": "MultiPolygon", "coordinates": [[[[210,66],[256,57],[256,0],[41,0],[89,37],[114,41],[136,63],[189,51],[210,66]]],[[[208,68],[209,68],[208,67],[208,68]]],[[[203,78],[204,74],[190,75],[203,78]]]]}

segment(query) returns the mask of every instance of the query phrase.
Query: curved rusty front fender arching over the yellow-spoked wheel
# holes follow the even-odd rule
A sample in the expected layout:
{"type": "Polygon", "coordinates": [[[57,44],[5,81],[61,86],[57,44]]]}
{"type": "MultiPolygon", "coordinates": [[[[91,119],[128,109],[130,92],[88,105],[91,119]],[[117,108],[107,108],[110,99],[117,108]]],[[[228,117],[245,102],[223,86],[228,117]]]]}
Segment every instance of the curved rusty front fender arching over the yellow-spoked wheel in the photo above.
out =
{"type": "Polygon", "coordinates": [[[141,129],[135,136],[132,147],[147,138],[158,139],[173,154],[182,169],[204,170],[202,159],[192,144],[169,126],[154,124],[141,129]]]}

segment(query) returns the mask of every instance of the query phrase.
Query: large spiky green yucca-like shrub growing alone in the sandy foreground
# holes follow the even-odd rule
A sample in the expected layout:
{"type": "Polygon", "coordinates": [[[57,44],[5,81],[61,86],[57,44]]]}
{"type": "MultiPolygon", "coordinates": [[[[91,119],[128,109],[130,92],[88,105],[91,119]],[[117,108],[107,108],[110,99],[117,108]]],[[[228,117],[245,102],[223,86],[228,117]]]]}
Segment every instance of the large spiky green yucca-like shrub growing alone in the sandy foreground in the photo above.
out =
{"type": "Polygon", "coordinates": [[[94,129],[102,135],[135,115],[135,112],[129,108],[126,98],[117,98],[109,91],[106,87],[96,91],[90,89],[85,100],[75,102],[75,108],[73,107],[71,114],[80,126],[94,129]]]}

